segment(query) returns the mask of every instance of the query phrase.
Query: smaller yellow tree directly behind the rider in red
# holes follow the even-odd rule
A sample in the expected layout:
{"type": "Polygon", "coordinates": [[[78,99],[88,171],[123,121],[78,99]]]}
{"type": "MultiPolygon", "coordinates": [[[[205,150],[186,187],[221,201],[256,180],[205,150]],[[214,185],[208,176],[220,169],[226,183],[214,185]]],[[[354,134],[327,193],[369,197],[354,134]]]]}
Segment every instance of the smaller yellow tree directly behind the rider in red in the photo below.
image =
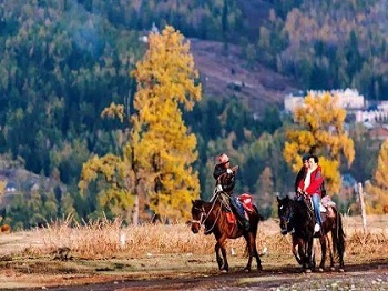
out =
{"type": "Polygon", "coordinates": [[[348,167],[355,159],[354,142],[344,130],[345,118],[346,110],[338,107],[337,96],[309,92],[294,112],[294,126],[286,132],[283,151],[294,172],[302,167],[302,155],[318,155],[328,191],[335,193],[340,189],[341,158],[348,167]]]}

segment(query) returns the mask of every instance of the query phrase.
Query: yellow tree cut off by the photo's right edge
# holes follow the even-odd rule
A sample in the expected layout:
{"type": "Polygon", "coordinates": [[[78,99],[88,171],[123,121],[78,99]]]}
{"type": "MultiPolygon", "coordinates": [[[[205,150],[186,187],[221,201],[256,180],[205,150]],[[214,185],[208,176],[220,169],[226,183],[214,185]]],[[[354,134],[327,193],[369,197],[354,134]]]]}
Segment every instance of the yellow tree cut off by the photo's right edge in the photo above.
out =
{"type": "Polygon", "coordinates": [[[366,199],[366,211],[369,214],[382,214],[388,208],[388,140],[381,144],[377,168],[371,183],[365,191],[370,195],[366,199]]]}

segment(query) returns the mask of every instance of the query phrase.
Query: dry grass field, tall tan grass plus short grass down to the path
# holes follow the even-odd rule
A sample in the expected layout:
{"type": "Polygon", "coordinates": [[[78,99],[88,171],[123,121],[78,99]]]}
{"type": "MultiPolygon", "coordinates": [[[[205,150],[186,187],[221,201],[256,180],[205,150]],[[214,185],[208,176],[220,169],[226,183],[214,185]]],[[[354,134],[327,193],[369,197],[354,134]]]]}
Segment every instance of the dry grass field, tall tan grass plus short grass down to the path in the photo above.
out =
{"type": "MultiPolygon", "coordinates": [[[[388,260],[388,215],[344,217],[345,264],[388,260]]],[[[186,224],[123,227],[121,221],[73,225],[71,221],[45,229],[0,234],[0,281],[7,288],[88,283],[122,277],[132,279],[216,274],[213,235],[193,234],[186,224]],[[33,278],[33,280],[31,280],[33,278]]],[[[280,235],[275,220],[261,222],[257,234],[263,268],[298,268],[290,237],[280,235]]],[[[246,264],[243,239],[228,240],[232,270],[246,264]]],[[[253,265],[255,268],[255,264],[253,265]]]]}

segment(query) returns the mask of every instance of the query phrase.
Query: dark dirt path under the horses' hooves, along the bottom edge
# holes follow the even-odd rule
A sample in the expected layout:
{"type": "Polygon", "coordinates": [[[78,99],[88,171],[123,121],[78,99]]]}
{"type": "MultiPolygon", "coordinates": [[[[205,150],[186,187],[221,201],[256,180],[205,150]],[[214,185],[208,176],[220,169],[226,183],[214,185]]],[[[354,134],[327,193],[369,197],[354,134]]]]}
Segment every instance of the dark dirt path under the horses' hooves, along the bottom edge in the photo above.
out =
{"type": "MultiPolygon", "coordinates": [[[[118,279],[98,284],[45,288],[49,290],[102,291],[102,290],[388,290],[388,262],[366,265],[348,265],[345,273],[302,273],[295,267],[262,272],[228,274],[173,274],[161,279],[118,279]]],[[[25,290],[25,289],[23,289],[25,290]]],[[[42,290],[35,288],[31,290],[42,290]]]]}

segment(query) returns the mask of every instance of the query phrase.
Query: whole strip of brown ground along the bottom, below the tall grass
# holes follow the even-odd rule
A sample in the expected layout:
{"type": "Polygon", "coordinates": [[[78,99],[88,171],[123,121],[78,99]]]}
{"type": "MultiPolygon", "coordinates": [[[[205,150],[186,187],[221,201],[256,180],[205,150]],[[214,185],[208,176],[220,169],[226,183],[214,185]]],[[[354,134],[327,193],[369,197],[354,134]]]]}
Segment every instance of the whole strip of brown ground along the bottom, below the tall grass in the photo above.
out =
{"type": "MultiPolygon", "coordinates": [[[[165,260],[165,268],[171,260],[165,260]]],[[[204,268],[206,261],[215,262],[211,258],[186,260],[191,267],[180,270],[154,270],[133,272],[95,268],[94,272],[84,272],[70,267],[57,269],[50,273],[49,262],[29,265],[24,264],[24,273],[2,270],[1,281],[6,289],[23,287],[22,290],[387,290],[388,260],[365,264],[348,264],[345,273],[325,271],[321,273],[303,273],[296,265],[286,264],[274,268],[264,263],[263,271],[245,273],[243,264],[235,264],[228,274],[219,274],[214,268],[204,268]],[[195,268],[193,268],[195,267],[195,268]],[[62,272],[62,273],[60,273],[62,272]],[[12,278],[13,277],[13,278],[12,278]],[[13,281],[10,284],[10,280],[13,281]],[[57,285],[57,287],[55,287],[57,285]]],[[[144,261],[144,264],[154,262],[144,261]]],[[[78,264],[82,264],[78,262],[78,264]]],[[[118,264],[119,265],[119,264],[118,264]]],[[[116,268],[119,268],[116,265],[116,268]]],[[[121,268],[121,267],[120,267],[121,268]]],[[[119,268],[119,269],[120,269],[119,268]]],[[[125,269],[125,267],[124,267],[125,269]]],[[[3,290],[3,289],[1,289],[3,290]]]]}

